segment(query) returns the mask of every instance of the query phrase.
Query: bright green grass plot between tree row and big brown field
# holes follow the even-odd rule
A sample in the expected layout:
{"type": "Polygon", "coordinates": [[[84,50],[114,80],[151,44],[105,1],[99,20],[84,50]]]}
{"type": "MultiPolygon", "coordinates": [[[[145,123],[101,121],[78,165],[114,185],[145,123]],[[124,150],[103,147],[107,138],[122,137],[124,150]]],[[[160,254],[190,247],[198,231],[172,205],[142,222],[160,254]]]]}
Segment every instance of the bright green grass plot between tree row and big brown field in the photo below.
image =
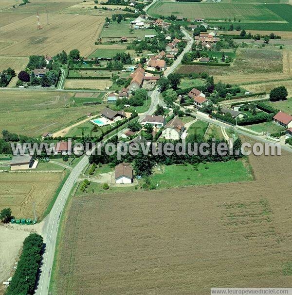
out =
{"type": "Polygon", "coordinates": [[[151,177],[154,185],[168,188],[184,185],[205,185],[221,182],[249,181],[253,177],[241,161],[199,164],[198,170],[192,165],[164,166],[163,173],[151,177]]]}

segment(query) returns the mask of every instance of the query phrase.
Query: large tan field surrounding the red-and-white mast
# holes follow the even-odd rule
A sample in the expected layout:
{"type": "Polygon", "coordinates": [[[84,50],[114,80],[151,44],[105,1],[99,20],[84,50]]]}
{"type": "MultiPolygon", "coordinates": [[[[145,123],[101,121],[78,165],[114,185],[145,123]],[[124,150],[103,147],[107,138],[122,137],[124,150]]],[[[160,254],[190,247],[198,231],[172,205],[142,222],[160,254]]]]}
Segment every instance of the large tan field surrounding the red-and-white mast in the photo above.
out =
{"type": "Polygon", "coordinates": [[[39,17],[42,30],[37,30],[36,16],[28,16],[1,27],[1,54],[55,55],[63,49],[68,52],[78,48],[81,55],[86,56],[93,51],[94,42],[104,23],[104,18],[100,16],[49,14],[47,25],[46,14],[40,14],[39,17]]]}

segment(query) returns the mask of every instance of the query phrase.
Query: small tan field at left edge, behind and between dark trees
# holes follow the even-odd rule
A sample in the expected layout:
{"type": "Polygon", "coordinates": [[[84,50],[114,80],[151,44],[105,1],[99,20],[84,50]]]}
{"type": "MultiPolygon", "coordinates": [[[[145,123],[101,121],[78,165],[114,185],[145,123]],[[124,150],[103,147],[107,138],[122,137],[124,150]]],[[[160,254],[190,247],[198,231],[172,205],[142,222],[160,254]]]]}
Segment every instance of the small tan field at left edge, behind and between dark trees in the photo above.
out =
{"type": "Polygon", "coordinates": [[[9,83],[9,87],[15,87],[18,82],[17,75],[19,72],[27,66],[29,61],[28,57],[18,57],[18,56],[0,56],[0,72],[8,67],[15,70],[16,77],[13,77],[9,83]]]}

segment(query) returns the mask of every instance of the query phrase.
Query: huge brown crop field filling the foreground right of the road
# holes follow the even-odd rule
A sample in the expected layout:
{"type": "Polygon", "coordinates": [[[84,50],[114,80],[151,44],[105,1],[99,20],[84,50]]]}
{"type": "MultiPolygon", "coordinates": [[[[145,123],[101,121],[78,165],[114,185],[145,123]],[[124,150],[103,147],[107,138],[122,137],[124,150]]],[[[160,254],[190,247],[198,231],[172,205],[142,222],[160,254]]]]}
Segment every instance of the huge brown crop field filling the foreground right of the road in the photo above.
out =
{"type": "Polygon", "coordinates": [[[292,165],[282,154],[251,156],[255,181],[73,197],[52,294],[290,287],[292,165]]]}

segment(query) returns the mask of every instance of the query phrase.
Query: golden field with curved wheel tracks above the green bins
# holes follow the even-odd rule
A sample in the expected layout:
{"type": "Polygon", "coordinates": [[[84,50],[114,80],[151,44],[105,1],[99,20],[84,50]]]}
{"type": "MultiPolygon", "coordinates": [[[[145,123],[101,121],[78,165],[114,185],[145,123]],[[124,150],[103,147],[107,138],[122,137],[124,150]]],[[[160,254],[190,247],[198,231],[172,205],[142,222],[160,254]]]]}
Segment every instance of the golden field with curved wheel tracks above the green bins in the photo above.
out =
{"type": "Polygon", "coordinates": [[[64,172],[1,173],[0,208],[10,208],[16,218],[33,218],[33,202],[37,217],[43,217],[64,172]]]}

